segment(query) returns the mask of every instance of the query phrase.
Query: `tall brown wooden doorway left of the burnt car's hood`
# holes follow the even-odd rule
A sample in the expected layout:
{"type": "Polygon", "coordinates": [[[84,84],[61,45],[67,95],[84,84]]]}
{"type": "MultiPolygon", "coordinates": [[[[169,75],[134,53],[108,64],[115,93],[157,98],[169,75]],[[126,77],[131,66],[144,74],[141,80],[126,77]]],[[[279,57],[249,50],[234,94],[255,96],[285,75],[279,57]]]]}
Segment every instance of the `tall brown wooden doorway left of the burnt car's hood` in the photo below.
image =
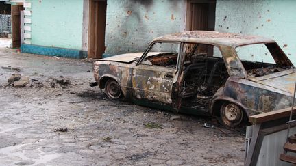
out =
{"type": "Polygon", "coordinates": [[[88,57],[101,59],[105,52],[107,1],[90,0],[88,22],[88,57]]]}

